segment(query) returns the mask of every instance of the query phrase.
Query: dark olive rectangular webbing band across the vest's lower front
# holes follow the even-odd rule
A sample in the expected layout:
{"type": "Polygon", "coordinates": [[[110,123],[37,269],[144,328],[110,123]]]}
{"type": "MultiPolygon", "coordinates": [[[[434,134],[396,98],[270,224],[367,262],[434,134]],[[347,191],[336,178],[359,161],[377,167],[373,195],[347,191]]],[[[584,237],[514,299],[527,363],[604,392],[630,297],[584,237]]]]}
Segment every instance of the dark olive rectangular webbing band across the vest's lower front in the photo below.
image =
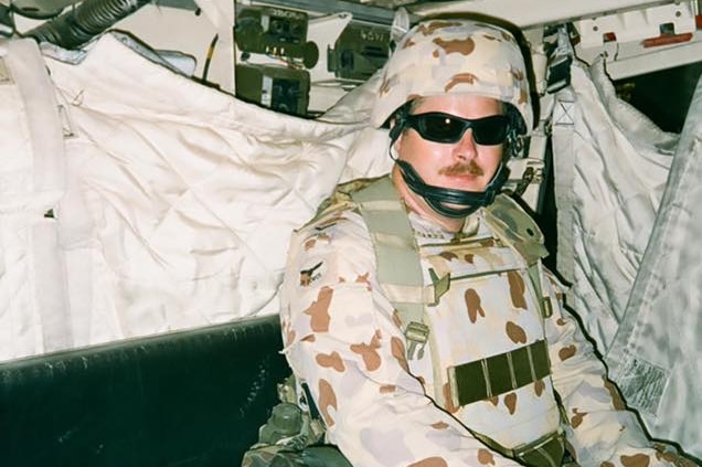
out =
{"type": "Polygon", "coordinates": [[[457,406],[485,401],[545,378],[551,372],[545,340],[448,369],[457,406]]]}

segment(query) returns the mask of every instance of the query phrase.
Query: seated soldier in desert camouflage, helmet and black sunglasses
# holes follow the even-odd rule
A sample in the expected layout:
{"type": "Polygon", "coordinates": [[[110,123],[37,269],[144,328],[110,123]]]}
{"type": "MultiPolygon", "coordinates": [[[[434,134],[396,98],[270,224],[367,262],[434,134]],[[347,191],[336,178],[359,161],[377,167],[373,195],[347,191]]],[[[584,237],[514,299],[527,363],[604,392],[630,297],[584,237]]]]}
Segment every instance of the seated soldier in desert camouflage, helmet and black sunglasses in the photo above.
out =
{"type": "Polygon", "coordinates": [[[340,187],[295,233],[284,352],[353,466],[685,465],[625,408],[541,232],[499,194],[532,121],[511,33],[423,21],[371,114],[390,177],[340,187]]]}

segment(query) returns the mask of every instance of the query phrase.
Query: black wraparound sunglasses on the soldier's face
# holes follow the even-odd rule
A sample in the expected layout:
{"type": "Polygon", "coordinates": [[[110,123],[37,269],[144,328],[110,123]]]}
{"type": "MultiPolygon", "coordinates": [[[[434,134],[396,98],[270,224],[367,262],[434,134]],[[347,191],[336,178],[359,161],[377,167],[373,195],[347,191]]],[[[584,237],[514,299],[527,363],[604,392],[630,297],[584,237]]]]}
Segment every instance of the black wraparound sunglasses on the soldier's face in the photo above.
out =
{"type": "Polygon", "coordinates": [[[435,142],[457,142],[468,128],[472,129],[472,139],[482,146],[501,145],[507,138],[509,118],[506,115],[469,120],[440,112],[408,115],[405,125],[417,130],[422,138],[435,142]]]}

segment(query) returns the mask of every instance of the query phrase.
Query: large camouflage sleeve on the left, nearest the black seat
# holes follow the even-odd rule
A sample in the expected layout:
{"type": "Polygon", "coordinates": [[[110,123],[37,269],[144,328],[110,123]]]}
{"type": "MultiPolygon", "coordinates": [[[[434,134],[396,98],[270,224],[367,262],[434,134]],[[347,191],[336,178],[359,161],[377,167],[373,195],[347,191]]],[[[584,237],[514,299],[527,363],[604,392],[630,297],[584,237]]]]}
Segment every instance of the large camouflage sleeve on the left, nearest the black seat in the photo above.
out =
{"type": "Polygon", "coordinates": [[[309,386],[328,442],[354,466],[517,466],[437,408],[408,373],[360,216],[332,213],[294,235],[290,248],[284,352],[309,386]]]}

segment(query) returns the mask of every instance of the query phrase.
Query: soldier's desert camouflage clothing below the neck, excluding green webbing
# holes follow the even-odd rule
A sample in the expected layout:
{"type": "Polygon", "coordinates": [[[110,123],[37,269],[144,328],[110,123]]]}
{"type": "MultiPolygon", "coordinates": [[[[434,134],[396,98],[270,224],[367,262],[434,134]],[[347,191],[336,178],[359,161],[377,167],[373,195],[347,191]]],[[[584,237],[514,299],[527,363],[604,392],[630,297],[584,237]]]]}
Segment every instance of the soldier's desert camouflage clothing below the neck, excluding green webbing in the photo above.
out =
{"type": "MultiPolygon", "coordinates": [[[[427,307],[430,350],[410,361],[354,206],[331,208],[295,235],[283,289],[285,353],[309,386],[327,441],[355,466],[517,465],[467,427],[507,447],[533,442],[561,426],[556,391],[579,465],[673,465],[624,410],[575,320],[557,306],[542,319],[524,261],[485,216],[478,211],[455,235],[410,214],[427,284],[429,268],[456,277],[427,307]],[[451,402],[448,367],[544,338],[551,376],[466,406],[451,402]]],[[[557,283],[544,274],[544,284],[557,303],[557,283]]]]}

